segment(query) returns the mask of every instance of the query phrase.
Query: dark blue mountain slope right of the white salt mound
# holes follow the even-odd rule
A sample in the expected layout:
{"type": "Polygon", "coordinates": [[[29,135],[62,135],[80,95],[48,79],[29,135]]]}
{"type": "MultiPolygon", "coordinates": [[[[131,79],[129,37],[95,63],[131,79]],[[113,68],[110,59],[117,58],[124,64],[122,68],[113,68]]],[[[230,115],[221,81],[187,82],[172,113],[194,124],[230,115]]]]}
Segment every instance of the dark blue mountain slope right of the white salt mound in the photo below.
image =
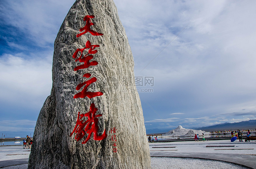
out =
{"type": "Polygon", "coordinates": [[[242,122],[236,122],[236,123],[222,123],[218,125],[213,126],[207,126],[207,127],[193,127],[195,130],[204,130],[204,131],[216,131],[216,130],[248,130],[248,129],[256,129],[256,119],[255,120],[248,120],[248,121],[242,121],[242,122]]]}

